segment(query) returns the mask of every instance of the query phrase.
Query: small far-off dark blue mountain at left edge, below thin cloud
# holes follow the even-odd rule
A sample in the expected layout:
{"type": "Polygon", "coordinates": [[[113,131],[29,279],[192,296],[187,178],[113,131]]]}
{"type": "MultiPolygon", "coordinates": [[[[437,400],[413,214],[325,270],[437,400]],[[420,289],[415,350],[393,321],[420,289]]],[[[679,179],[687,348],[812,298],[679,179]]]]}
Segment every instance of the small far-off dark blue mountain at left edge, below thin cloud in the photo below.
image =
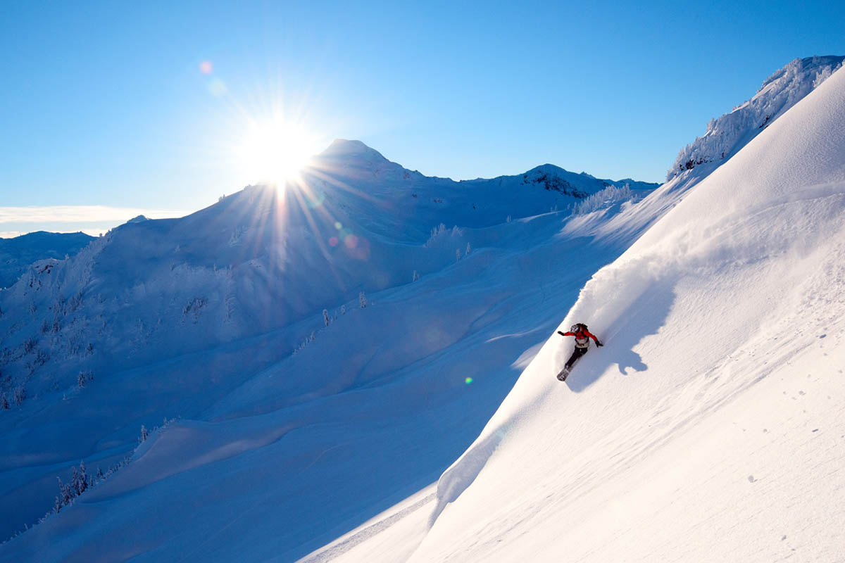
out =
{"type": "Polygon", "coordinates": [[[39,230],[10,239],[0,238],[0,288],[8,287],[36,260],[74,256],[94,237],[85,233],[47,233],[39,230]]]}

